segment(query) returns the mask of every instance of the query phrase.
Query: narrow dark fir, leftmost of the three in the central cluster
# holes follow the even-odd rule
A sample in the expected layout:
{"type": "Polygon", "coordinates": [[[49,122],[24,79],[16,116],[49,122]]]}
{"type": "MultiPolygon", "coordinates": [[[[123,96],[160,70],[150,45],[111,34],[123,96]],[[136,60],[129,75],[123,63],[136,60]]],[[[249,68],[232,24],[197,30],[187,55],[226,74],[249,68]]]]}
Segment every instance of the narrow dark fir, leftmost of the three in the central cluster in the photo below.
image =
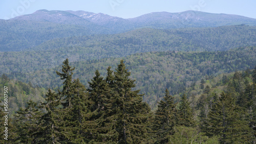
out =
{"type": "MultiPolygon", "coordinates": [[[[108,77],[112,76],[113,71],[111,67],[108,69],[108,77]]],[[[100,76],[99,71],[95,71],[95,77],[88,82],[90,88],[88,88],[89,99],[92,102],[91,111],[93,115],[90,118],[90,129],[94,139],[91,142],[107,142],[112,141],[112,127],[111,120],[107,118],[109,116],[108,102],[111,97],[110,85],[113,84],[113,79],[110,81],[104,80],[100,76]]]]}

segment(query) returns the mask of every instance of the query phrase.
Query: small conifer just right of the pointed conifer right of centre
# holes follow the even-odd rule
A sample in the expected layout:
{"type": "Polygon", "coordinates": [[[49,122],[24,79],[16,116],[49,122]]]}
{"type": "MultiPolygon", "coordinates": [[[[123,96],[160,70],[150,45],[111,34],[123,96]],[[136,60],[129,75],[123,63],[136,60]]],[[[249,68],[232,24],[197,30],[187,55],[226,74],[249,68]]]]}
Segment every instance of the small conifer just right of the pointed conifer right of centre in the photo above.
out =
{"type": "Polygon", "coordinates": [[[183,94],[181,97],[181,102],[178,109],[178,119],[177,124],[186,127],[192,127],[195,125],[195,121],[193,119],[193,113],[190,108],[190,103],[186,98],[186,95],[183,94]]]}

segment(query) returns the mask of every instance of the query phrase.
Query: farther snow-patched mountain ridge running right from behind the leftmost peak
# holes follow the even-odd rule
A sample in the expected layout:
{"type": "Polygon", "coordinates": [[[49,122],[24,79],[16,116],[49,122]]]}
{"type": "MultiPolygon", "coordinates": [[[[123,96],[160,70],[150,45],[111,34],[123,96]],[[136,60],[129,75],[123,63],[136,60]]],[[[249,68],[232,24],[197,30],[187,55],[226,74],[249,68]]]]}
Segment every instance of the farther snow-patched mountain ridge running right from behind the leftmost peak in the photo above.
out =
{"type": "Polygon", "coordinates": [[[102,13],[85,11],[67,11],[80,16],[97,25],[109,28],[114,32],[125,32],[138,28],[174,29],[220,27],[229,25],[256,26],[256,19],[230,14],[214,14],[199,11],[185,11],[180,13],[152,12],[135,18],[123,19],[102,13]]]}

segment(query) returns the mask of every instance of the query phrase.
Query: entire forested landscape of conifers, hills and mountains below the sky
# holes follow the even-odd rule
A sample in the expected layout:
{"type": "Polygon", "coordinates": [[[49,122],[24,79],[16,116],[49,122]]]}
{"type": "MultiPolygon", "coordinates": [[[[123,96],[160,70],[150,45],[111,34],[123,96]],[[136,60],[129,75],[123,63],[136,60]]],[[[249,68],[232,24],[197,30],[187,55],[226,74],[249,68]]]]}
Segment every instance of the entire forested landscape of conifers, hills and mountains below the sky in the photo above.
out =
{"type": "Polygon", "coordinates": [[[0,143],[256,142],[253,18],[38,10],[0,61],[0,143]]]}

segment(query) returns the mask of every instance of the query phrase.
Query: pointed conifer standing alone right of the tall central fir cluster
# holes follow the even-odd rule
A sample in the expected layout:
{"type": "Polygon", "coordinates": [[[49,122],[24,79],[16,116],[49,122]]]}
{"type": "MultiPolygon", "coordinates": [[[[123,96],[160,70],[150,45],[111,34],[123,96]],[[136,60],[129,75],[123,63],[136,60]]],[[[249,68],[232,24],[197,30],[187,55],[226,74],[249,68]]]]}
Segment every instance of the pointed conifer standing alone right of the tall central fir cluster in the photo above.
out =
{"type": "Polygon", "coordinates": [[[175,107],[174,98],[169,94],[168,89],[165,90],[163,100],[158,103],[158,109],[155,113],[154,131],[156,133],[157,142],[168,142],[169,135],[172,135],[175,121],[175,107]]]}

